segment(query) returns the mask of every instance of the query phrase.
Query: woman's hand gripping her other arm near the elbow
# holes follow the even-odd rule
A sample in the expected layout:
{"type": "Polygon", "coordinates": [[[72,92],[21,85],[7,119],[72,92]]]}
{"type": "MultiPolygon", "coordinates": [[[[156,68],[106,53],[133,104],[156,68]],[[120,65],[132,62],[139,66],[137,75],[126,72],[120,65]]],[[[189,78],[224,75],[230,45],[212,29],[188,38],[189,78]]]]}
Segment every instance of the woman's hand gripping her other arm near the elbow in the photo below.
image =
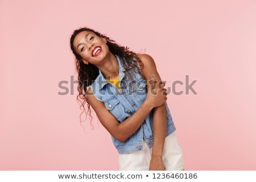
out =
{"type": "Polygon", "coordinates": [[[154,76],[150,77],[149,84],[150,86],[147,92],[146,100],[152,105],[153,108],[163,105],[167,100],[167,90],[164,89],[166,84],[164,84],[162,81],[156,84],[154,76]]]}

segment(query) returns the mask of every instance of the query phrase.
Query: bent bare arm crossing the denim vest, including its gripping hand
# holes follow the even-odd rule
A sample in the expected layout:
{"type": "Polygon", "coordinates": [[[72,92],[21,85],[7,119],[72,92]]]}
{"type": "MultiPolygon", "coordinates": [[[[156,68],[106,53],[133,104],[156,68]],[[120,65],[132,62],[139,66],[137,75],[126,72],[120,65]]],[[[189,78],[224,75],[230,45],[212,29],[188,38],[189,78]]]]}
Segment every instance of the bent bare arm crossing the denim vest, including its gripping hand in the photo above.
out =
{"type": "Polygon", "coordinates": [[[163,95],[163,90],[158,89],[158,86],[155,87],[154,92],[156,93],[155,95],[147,94],[147,98],[141,107],[139,107],[131,117],[121,123],[106,109],[103,102],[97,100],[92,94],[92,89],[88,90],[87,100],[106,130],[108,130],[115,139],[124,142],[139,129],[144,119],[146,119],[147,115],[154,107],[163,105],[166,101],[167,98],[163,95]]]}

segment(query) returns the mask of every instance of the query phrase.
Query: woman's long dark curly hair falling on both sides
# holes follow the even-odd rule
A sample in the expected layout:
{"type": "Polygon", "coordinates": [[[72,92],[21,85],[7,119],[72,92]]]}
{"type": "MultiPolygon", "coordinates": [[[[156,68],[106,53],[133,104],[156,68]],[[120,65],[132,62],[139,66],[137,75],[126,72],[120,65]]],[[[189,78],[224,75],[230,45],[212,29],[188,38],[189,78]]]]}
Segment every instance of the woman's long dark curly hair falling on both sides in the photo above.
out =
{"type": "MultiPolygon", "coordinates": [[[[114,55],[117,55],[120,57],[123,67],[125,68],[125,71],[128,71],[128,69],[133,68],[135,72],[139,72],[139,71],[141,72],[140,68],[143,67],[141,60],[139,60],[137,56],[137,53],[130,51],[129,47],[119,46],[117,43],[115,43],[114,40],[87,27],[83,27],[83,28],[79,28],[78,30],[75,30],[70,39],[70,46],[73,54],[76,57],[76,69],[77,69],[78,80],[79,80],[79,85],[77,86],[77,90],[79,94],[77,95],[77,100],[80,102],[80,109],[82,110],[80,114],[80,121],[82,121],[81,115],[83,113],[88,114],[92,118],[92,115],[91,115],[92,111],[90,109],[89,102],[87,101],[87,98],[86,98],[86,90],[89,85],[92,85],[93,81],[97,78],[99,74],[98,68],[95,65],[90,63],[84,64],[84,62],[82,61],[82,57],[79,55],[79,53],[75,51],[75,47],[73,45],[74,39],[76,35],[82,31],[93,32],[98,37],[106,39],[106,42],[107,42],[106,44],[109,47],[109,51],[112,52],[114,55]],[[87,109],[85,108],[85,104],[87,104],[87,109]]],[[[128,75],[131,78],[131,80],[133,80],[133,77],[130,72],[128,72],[128,75]]]]}

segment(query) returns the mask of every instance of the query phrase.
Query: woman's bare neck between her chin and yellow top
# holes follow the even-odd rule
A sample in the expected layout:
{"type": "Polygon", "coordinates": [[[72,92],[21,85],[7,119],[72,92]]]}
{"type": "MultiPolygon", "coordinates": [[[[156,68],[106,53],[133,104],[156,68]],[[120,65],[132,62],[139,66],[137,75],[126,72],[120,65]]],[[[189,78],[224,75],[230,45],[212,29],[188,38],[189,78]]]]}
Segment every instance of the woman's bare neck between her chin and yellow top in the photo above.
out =
{"type": "Polygon", "coordinates": [[[104,77],[108,80],[112,80],[119,75],[119,65],[117,57],[113,53],[109,53],[106,56],[105,61],[101,65],[98,65],[98,69],[102,72],[104,77]]]}

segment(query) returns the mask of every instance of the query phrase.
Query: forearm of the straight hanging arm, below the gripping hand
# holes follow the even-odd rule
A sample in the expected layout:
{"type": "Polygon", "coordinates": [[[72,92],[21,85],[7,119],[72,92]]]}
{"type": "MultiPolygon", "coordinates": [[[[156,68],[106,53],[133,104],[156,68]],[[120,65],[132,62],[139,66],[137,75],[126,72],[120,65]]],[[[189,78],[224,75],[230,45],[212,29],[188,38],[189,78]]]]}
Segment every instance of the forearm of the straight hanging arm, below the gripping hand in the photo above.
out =
{"type": "Polygon", "coordinates": [[[156,107],[153,116],[154,143],[152,146],[152,156],[161,156],[163,154],[164,140],[167,130],[167,112],[166,105],[156,107]]]}

